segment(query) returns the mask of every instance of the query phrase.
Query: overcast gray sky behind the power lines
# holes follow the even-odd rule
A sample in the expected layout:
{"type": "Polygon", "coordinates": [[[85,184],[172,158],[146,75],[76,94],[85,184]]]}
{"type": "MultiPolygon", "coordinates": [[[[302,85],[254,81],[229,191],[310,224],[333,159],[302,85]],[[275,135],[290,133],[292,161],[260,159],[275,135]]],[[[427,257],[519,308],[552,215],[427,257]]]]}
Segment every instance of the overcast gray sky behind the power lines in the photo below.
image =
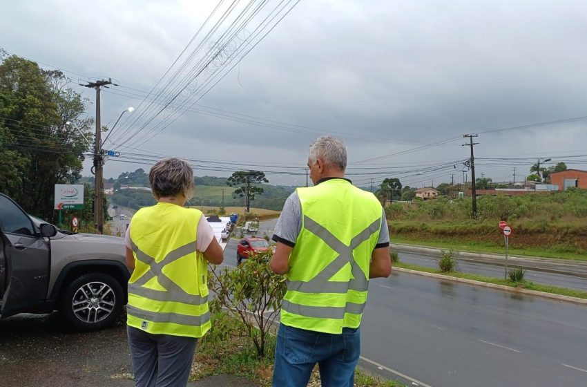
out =
{"type": "MultiPolygon", "coordinates": [[[[477,177],[512,180],[516,167],[520,180],[537,158],[587,169],[587,120],[491,132],[587,116],[584,0],[301,0],[240,63],[238,48],[248,50],[258,41],[247,38],[264,17],[275,15],[270,11],[280,1],[269,1],[222,50],[222,33],[230,31],[239,12],[246,15],[260,2],[236,1],[218,24],[231,1],[221,2],[214,14],[218,1],[2,3],[1,47],[46,68],[67,70],[72,87],[90,99],[91,116],[95,92],[77,83],[111,77],[120,86],[102,93],[103,124],[111,126],[128,106],[137,108],[113,131],[108,149],[121,156],[106,162],[106,177],[148,170],[148,162],[128,161],[163,154],[204,160],[195,163],[198,176],[255,167],[280,172],[268,175],[272,183],[302,185],[308,145],[327,133],[347,144],[347,172],[359,185],[384,177],[400,177],[412,187],[438,185],[450,182],[453,173],[455,182],[462,181],[459,163],[470,154],[461,146],[468,140],[463,133],[479,133],[477,177]],[[217,29],[205,39],[213,26],[217,29]],[[180,68],[198,44],[193,61],[180,68]],[[206,52],[218,55],[204,68],[207,62],[198,61],[206,52]],[[222,67],[230,57],[235,61],[222,67]],[[199,87],[206,79],[215,71],[227,73],[233,64],[202,96],[207,88],[199,87]],[[190,72],[199,70],[189,83],[190,72]],[[164,89],[166,82],[186,88],[163,109],[177,94],[164,89]],[[153,87],[155,93],[164,91],[160,100],[150,103],[153,93],[142,102],[153,87]],[[196,100],[224,112],[175,108],[196,100]],[[139,131],[155,111],[161,113],[139,131]],[[242,122],[259,122],[243,115],[262,118],[264,126],[242,122]],[[211,160],[231,164],[218,167],[211,160]],[[381,174],[369,174],[375,172],[381,174]]],[[[287,8],[279,17],[293,4],[282,2],[287,8]]]]}

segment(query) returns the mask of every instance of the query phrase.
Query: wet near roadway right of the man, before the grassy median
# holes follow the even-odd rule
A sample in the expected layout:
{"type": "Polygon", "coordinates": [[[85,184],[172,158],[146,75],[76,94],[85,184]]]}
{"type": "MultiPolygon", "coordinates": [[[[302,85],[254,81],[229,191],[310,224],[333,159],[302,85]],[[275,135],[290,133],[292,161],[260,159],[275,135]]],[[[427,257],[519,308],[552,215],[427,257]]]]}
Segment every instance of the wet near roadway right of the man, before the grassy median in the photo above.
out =
{"type": "Polygon", "coordinates": [[[369,283],[362,354],[434,387],[584,387],[585,321],[584,305],[400,273],[369,283]]]}

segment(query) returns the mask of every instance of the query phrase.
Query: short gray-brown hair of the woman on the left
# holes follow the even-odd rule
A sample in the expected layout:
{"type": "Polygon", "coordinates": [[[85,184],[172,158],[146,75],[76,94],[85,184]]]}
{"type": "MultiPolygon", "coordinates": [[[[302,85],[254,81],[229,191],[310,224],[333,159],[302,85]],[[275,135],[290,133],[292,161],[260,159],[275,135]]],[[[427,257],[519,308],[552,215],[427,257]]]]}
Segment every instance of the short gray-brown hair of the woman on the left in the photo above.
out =
{"type": "Polygon", "coordinates": [[[162,196],[178,195],[190,199],[195,189],[191,165],[179,158],[164,158],[157,161],[148,173],[148,181],[157,200],[162,196]]]}

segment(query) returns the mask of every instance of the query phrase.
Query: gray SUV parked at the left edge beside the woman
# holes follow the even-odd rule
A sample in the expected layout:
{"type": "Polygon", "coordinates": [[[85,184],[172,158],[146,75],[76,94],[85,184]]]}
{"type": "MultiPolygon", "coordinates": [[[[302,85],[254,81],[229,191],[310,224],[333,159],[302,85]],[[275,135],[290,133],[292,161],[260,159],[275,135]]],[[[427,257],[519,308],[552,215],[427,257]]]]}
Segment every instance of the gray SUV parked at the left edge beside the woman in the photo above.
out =
{"type": "Polygon", "coordinates": [[[80,330],[106,328],[126,304],[124,239],[59,230],[0,193],[0,319],[60,310],[80,330]]]}

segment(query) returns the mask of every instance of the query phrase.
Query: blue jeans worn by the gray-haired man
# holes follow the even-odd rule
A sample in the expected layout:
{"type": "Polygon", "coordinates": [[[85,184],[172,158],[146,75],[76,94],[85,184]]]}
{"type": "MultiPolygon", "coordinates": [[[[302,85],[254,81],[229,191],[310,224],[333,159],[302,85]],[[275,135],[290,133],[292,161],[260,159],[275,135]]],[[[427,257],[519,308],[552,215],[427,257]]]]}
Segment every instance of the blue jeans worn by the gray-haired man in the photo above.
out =
{"type": "Polygon", "coordinates": [[[307,386],[316,363],[323,387],[353,387],[359,356],[358,328],[330,334],[280,324],[273,387],[307,386]]]}

